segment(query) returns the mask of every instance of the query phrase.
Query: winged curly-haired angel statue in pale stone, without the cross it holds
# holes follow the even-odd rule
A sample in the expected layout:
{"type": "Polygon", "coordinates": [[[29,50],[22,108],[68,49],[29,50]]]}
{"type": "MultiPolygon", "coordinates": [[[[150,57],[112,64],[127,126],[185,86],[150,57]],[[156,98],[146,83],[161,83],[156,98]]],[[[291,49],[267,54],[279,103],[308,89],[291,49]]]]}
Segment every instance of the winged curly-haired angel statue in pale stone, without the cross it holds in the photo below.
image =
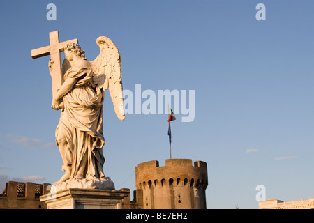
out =
{"type": "MultiPolygon", "coordinates": [[[[100,189],[114,189],[110,178],[103,173],[103,101],[104,91],[109,89],[114,111],[120,120],[124,120],[121,58],[110,38],[100,36],[96,43],[100,47],[100,54],[94,61],[87,61],[84,50],[76,43],[63,47],[64,81],[53,96],[51,107],[61,109],[56,142],[65,174],[54,186],[63,184],[63,188],[84,188],[88,187],[84,183],[91,184],[92,180],[94,185],[90,187],[97,188],[99,182],[106,182],[106,188],[100,185],[100,189]]],[[[53,63],[50,59],[50,72],[53,63]]]]}

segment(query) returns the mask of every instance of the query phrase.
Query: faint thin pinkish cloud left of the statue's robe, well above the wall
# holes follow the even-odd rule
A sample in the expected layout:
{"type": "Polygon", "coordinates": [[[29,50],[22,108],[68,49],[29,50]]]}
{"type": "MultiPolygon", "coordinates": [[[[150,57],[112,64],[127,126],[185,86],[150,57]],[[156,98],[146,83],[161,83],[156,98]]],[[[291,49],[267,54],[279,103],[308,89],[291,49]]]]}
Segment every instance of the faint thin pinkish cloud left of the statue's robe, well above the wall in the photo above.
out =
{"type": "Polygon", "coordinates": [[[7,134],[6,137],[10,139],[10,141],[13,141],[15,144],[20,144],[22,146],[27,146],[31,148],[37,148],[37,147],[47,148],[47,147],[56,146],[56,144],[47,143],[45,140],[42,140],[42,139],[31,139],[29,137],[20,136],[20,135],[7,134]]]}

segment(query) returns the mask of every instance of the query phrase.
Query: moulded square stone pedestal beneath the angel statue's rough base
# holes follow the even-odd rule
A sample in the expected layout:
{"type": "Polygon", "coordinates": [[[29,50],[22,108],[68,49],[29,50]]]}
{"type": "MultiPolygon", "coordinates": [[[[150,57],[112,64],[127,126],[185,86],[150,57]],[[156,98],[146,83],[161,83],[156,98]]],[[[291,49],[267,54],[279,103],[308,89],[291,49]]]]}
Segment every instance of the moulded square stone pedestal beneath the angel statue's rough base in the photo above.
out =
{"type": "Polygon", "coordinates": [[[70,188],[50,192],[40,197],[47,209],[121,209],[121,201],[129,192],[70,188]]]}

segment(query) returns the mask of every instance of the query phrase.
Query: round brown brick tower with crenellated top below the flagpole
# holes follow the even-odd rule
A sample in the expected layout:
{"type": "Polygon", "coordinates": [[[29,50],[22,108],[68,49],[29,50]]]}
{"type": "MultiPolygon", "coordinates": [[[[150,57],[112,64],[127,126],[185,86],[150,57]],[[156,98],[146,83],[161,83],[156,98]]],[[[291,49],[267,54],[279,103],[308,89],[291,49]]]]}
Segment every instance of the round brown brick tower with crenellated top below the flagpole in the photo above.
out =
{"type": "Polygon", "coordinates": [[[189,159],[156,160],[135,167],[136,189],[143,192],[144,209],[205,209],[207,164],[189,159]]]}

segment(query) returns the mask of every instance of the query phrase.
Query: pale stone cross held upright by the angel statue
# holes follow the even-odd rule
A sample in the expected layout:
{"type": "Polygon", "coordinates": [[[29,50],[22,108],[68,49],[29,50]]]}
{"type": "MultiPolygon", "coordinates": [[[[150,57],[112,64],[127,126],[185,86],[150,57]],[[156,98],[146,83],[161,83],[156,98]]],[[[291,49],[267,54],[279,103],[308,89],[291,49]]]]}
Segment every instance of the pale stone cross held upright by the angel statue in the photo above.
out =
{"type": "Polygon", "coordinates": [[[50,59],[54,62],[51,66],[52,97],[53,97],[63,84],[61,51],[63,51],[63,47],[65,47],[66,44],[77,43],[77,39],[59,43],[59,32],[53,31],[49,33],[49,40],[50,45],[31,50],[31,57],[33,59],[36,59],[38,57],[50,55],[50,59]]]}

